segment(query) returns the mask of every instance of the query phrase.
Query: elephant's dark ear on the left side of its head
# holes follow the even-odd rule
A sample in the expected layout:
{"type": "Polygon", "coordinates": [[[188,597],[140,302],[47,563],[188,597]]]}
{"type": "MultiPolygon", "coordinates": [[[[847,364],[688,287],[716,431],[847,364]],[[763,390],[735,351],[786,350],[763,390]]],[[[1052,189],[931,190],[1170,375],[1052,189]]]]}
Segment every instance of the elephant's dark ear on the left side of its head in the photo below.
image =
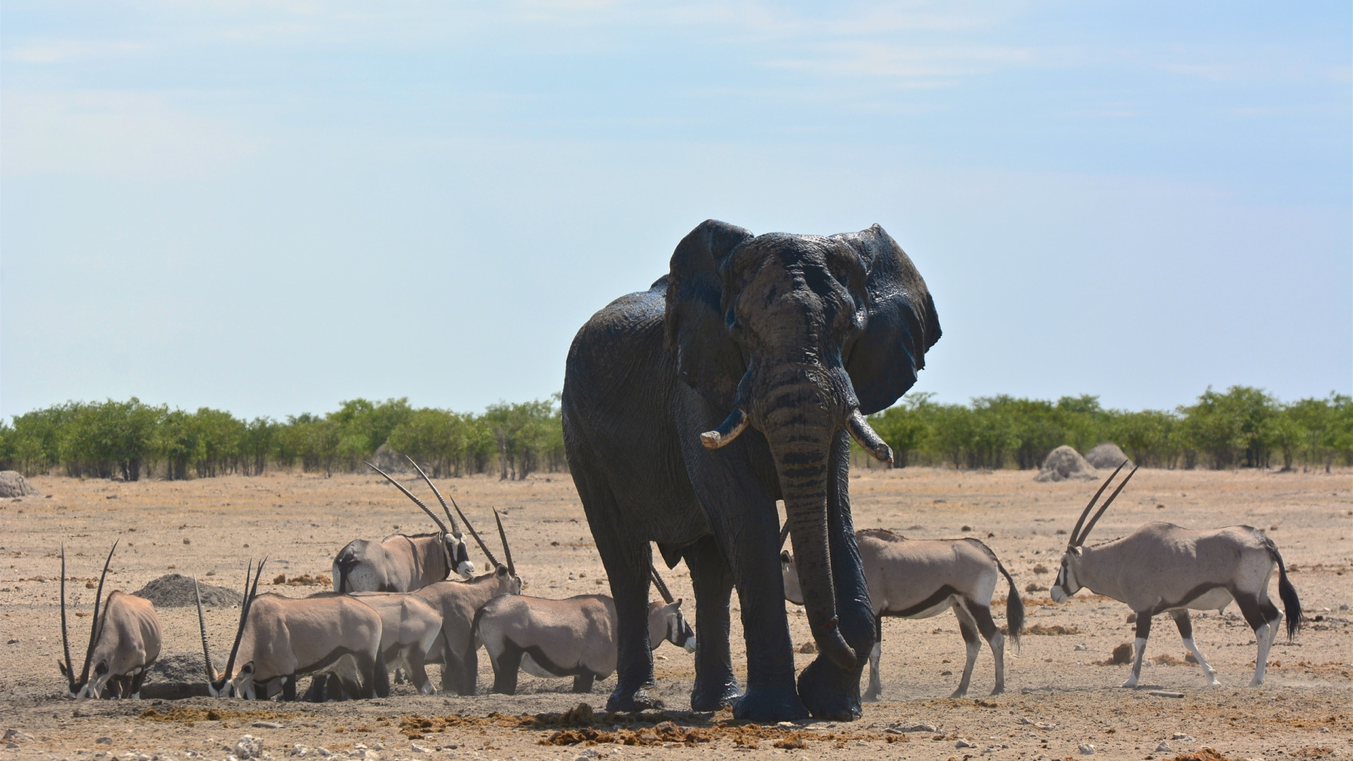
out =
{"type": "Polygon", "coordinates": [[[747,230],[706,219],[672,252],[667,279],[667,348],[676,353],[676,375],[720,413],[732,409],[746,370],[741,351],[724,326],[724,276],[720,267],[747,230]]]}

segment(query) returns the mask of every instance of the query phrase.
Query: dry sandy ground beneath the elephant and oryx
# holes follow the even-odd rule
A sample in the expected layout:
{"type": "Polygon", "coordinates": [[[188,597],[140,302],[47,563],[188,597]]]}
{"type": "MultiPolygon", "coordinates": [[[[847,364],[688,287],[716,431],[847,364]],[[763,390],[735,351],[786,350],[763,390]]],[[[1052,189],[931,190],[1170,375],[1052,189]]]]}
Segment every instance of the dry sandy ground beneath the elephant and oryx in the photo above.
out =
{"type": "MultiPolygon", "coordinates": [[[[233,753],[245,734],[261,738],[262,752],[276,758],[304,745],[307,758],[323,746],[341,758],[379,756],[383,761],[579,756],[622,761],[695,754],[1035,760],[1078,757],[1081,743],[1092,743],[1096,756],[1111,758],[1173,758],[1204,746],[1229,758],[1353,753],[1353,612],[1346,608],[1353,605],[1353,478],[1346,471],[1143,470],[1095,531],[1096,539],[1109,539],[1149,520],[1191,527],[1249,524],[1268,531],[1295,571],[1292,581],[1308,615],[1323,620],[1310,622],[1292,643],[1279,640],[1262,688],[1243,687],[1252,674],[1254,645],[1234,607],[1226,616],[1195,619],[1195,636],[1223,687],[1204,689],[1199,669],[1181,664],[1184,649],[1169,619],[1162,617],[1147,655],[1166,662],[1143,672],[1142,689],[1127,691],[1116,687],[1127,666],[1096,664],[1131,639],[1126,607],[1088,592],[1070,604],[1053,605],[1046,593],[1034,592],[1024,594],[1027,626],[1061,626],[1074,634],[1026,635],[1020,657],[1007,661],[1005,695],[986,697],[993,674],[990,651],[984,650],[969,699],[944,697],[957,685],[958,676],[951,672],[962,669],[963,658],[950,613],[921,622],[889,619],[884,626],[884,701],[867,704],[863,719],[851,724],[782,727],[741,726],[728,714],[679,712],[687,707],[691,655],[670,645],[656,651],[656,664],[659,688],[672,712],[628,723],[598,716],[591,729],[586,729],[586,716],[579,719],[575,712],[560,720],[557,714],[580,700],[599,710],[613,678],[598,682],[590,696],[571,695],[568,680],[524,674],[518,696],[423,697],[396,687],[386,700],[325,705],[211,699],[74,703],[61,697],[64,684],[55,669],[61,635],[54,577],[61,542],[69,555],[69,577],[80,580],[70,585],[73,607],[87,613],[93,592],[84,581],[97,577],[115,538],[122,546],[110,574],[114,589],[135,590],[175,570],[238,588],[250,557],[272,558],[269,580],[276,573],[329,573],[330,559],[349,539],[426,531],[430,524],[391,486],[367,475],[269,474],[179,483],[37,478],[34,483],[46,498],[0,501],[0,731],[18,731],[0,741],[0,760],[215,760],[233,753]],[[1160,689],[1183,697],[1150,695],[1160,689]],[[147,708],[156,714],[142,716],[147,708]],[[524,719],[537,714],[556,716],[524,719]],[[662,723],[667,719],[674,723],[662,723]],[[280,727],[256,727],[257,720],[280,727]],[[583,742],[543,745],[556,737],[560,723],[584,729],[557,739],[583,742]],[[935,731],[897,734],[898,727],[915,724],[932,724],[935,731]],[[617,738],[621,742],[614,742],[617,738]],[[1157,750],[1162,741],[1170,750],[1157,750]]],[[[601,561],[568,475],[441,483],[480,529],[492,525],[491,506],[503,512],[529,593],[564,597],[605,589],[601,561]]],[[[1030,584],[1046,588],[1051,582],[1053,574],[1039,573],[1039,567],[1055,571],[1065,543],[1057,531],[1070,529],[1095,486],[1035,483],[1028,471],[932,469],[856,471],[851,481],[858,527],[881,525],[912,538],[980,536],[1015,574],[1022,592],[1030,584]]],[[[472,557],[482,567],[478,548],[472,557]]],[[[666,575],[678,596],[690,599],[683,566],[666,575]]],[[[276,589],[295,596],[317,590],[276,589]]],[[[999,609],[1003,622],[1004,607],[999,609]]],[[[806,640],[805,619],[793,605],[789,611],[796,640],[806,640]]],[[[233,609],[208,609],[218,650],[229,647],[235,616],[233,609]]],[[[161,609],[160,617],[162,658],[198,653],[192,608],[161,609]]],[[[733,619],[735,658],[740,658],[743,643],[737,616],[733,619]]],[[[87,616],[72,616],[77,657],[88,623],[87,616]]],[[[800,655],[805,664],[810,657],[800,655]]],[[[482,655],[480,691],[491,682],[487,657],[482,655]]]]}

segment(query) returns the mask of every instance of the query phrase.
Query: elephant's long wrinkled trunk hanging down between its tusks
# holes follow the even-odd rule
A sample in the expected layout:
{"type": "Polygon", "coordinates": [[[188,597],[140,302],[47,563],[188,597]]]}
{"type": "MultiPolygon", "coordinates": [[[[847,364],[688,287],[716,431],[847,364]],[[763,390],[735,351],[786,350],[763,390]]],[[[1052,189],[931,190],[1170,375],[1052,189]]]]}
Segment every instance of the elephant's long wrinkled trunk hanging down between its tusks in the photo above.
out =
{"type": "Polygon", "coordinates": [[[763,413],[758,428],[766,435],[779,474],[808,624],[823,654],[844,669],[854,668],[856,654],[836,626],[827,532],[828,460],[842,405],[805,378],[778,386],[760,399],[766,404],[759,405],[763,413]]]}

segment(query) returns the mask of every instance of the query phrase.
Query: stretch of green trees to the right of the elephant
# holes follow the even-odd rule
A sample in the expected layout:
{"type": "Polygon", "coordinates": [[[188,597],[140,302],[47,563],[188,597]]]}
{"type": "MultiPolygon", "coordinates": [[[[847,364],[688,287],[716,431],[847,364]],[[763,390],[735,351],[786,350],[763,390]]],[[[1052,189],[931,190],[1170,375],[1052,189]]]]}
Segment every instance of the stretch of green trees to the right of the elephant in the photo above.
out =
{"type": "Polygon", "coordinates": [[[1036,469],[1054,448],[1085,452],[1114,441],[1145,467],[1321,467],[1353,464],[1353,398],[1331,393],[1284,404],[1250,386],[1204,391],[1169,410],[1115,410],[1099,397],[1051,402],[1008,395],[970,405],[930,394],[870,417],[893,447],[896,464],[1036,469]]]}

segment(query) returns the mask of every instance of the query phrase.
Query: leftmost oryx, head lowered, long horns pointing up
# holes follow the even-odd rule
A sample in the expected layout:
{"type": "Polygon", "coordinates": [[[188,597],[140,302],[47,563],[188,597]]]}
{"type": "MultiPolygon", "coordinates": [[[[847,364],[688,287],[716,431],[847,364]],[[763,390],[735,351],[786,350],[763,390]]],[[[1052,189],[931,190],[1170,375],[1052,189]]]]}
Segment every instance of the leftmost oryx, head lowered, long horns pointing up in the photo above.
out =
{"type": "Polygon", "coordinates": [[[149,600],[115,589],[103,607],[103,617],[99,617],[103,580],[108,575],[108,563],[116,548],[118,543],[114,542],[108,559],[103,562],[99,589],[93,593],[89,646],[77,680],[74,664],[70,662],[70,635],[66,632],[66,548],[61,547],[61,647],[66,661],[58,661],[57,666],[69,682],[70,697],[103,697],[106,685],[111,685],[115,697],[141,697],[146,670],[160,657],[160,617],[149,600]]]}

